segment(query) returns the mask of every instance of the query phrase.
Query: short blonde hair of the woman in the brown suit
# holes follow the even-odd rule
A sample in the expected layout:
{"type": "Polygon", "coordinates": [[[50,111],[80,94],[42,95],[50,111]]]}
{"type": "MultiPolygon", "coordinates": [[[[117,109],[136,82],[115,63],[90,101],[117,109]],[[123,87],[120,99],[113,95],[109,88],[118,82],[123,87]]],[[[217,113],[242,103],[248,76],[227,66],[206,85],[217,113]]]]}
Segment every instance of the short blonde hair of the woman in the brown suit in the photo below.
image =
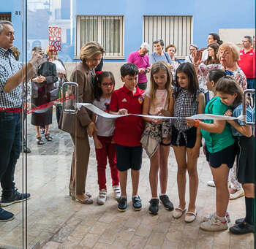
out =
{"type": "Polygon", "coordinates": [[[86,61],[86,59],[91,59],[95,55],[103,55],[105,52],[106,51],[99,42],[87,42],[80,50],[80,60],[86,61]]]}

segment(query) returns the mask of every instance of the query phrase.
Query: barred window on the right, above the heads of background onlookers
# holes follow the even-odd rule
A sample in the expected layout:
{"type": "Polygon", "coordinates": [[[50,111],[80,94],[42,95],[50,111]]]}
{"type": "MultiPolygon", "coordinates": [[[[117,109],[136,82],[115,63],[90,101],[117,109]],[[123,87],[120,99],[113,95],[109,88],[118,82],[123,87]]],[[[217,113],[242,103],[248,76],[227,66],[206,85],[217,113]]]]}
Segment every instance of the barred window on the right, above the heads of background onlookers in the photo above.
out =
{"type": "Polygon", "coordinates": [[[148,42],[154,52],[153,42],[162,39],[167,45],[177,47],[175,56],[184,58],[189,55],[189,45],[193,41],[192,16],[143,16],[143,42],[148,42]]]}

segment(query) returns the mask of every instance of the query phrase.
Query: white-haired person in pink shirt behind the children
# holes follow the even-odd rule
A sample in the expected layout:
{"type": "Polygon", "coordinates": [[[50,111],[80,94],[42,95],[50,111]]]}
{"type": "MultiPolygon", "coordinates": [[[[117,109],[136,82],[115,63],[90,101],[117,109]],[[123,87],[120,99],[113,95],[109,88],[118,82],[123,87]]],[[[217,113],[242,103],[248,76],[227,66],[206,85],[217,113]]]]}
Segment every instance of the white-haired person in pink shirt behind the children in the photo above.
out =
{"type": "Polygon", "coordinates": [[[147,88],[147,77],[146,73],[150,72],[149,58],[146,53],[148,53],[150,47],[149,44],[143,42],[140,45],[140,49],[129,54],[127,58],[128,63],[133,63],[138,66],[139,75],[138,75],[138,88],[145,90],[147,88]]]}

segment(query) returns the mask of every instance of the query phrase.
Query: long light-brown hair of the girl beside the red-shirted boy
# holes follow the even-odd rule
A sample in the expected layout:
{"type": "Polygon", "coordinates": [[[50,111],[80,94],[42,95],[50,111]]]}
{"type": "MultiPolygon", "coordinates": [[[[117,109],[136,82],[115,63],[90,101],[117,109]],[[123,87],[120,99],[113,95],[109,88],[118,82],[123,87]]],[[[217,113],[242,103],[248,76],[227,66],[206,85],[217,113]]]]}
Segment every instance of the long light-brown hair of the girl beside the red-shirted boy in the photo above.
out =
{"type": "Polygon", "coordinates": [[[157,93],[157,83],[154,80],[154,74],[157,74],[160,70],[162,72],[165,72],[167,74],[167,81],[165,83],[165,89],[167,90],[167,101],[169,103],[170,99],[170,88],[172,83],[172,74],[170,72],[169,66],[167,62],[165,61],[156,61],[154,62],[152,68],[151,68],[151,86],[150,86],[150,105],[151,107],[154,107],[154,104],[156,102],[156,93],[157,93]]]}

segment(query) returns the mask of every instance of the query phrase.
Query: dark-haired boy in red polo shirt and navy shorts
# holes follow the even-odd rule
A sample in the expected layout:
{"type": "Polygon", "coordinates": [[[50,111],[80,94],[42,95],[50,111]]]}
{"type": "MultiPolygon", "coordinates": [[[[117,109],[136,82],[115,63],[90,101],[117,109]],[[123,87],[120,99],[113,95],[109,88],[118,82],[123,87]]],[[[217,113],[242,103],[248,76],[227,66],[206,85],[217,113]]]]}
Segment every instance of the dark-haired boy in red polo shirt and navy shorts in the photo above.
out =
{"type": "MultiPolygon", "coordinates": [[[[113,91],[110,101],[110,113],[126,115],[141,114],[143,110],[143,90],[138,88],[138,67],[135,64],[121,66],[121,80],[124,86],[113,91]]],[[[138,196],[142,152],[140,139],[143,134],[143,118],[129,115],[116,119],[113,140],[116,142],[116,168],[119,171],[121,197],[118,200],[118,210],[127,210],[127,172],[132,175],[132,207],[141,210],[141,200],[138,196]]]]}

